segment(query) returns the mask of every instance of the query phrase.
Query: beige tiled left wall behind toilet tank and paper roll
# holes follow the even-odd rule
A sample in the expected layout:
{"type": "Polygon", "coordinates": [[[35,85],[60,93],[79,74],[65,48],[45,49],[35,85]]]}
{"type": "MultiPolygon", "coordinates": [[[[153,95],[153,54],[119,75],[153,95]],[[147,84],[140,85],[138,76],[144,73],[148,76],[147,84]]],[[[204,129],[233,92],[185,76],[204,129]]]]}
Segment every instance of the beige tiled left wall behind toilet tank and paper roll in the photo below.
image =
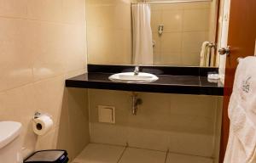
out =
{"type": "Polygon", "coordinates": [[[24,155],[55,149],[62,138],[58,146],[67,147],[73,157],[88,141],[86,101],[73,97],[86,94],[66,89],[64,81],[85,71],[85,1],[1,0],[0,29],[0,121],[22,123],[24,155]],[[35,111],[54,120],[43,137],[32,132],[35,111]],[[73,133],[67,137],[63,131],[73,133]],[[70,147],[64,140],[81,143],[70,147]]]}

